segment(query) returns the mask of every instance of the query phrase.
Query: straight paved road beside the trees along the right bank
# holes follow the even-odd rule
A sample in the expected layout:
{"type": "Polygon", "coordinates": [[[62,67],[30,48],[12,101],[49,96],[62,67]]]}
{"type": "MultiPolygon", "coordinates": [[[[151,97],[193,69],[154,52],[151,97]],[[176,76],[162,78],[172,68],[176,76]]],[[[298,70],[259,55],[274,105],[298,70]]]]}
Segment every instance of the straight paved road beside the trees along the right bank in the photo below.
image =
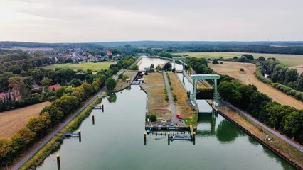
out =
{"type": "MultiPolygon", "coordinates": [[[[228,103],[226,103],[225,101],[223,101],[223,103],[228,105],[228,103]]],[[[248,113],[241,111],[239,108],[236,108],[235,106],[232,106],[232,105],[229,105],[229,106],[230,106],[230,108],[233,108],[234,110],[238,111],[238,113],[241,113],[242,115],[244,115],[246,118],[249,118],[250,120],[252,120],[257,125],[260,125],[265,130],[271,132],[272,134],[276,135],[277,137],[280,137],[281,140],[284,140],[285,142],[289,143],[289,145],[292,145],[293,147],[296,147],[301,152],[303,152],[303,147],[301,145],[297,145],[296,143],[292,142],[292,140],[289,140],[289,138],[285,137],[284,135],[281,135],[280,132],[276,132],[275,130],[268,128],[266,125],[264,125],[263,123],[260,123],[255,118],[252,118],[252,116],[248,115],[248,113]]]]}

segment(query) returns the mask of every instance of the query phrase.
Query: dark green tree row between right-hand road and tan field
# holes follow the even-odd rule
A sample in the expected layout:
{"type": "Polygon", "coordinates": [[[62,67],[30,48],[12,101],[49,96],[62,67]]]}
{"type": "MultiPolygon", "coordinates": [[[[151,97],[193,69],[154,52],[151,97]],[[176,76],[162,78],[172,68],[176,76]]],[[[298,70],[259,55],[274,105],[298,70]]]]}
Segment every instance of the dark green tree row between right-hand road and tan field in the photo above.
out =
{"type": "MultiPolygon", "coordinates": [[[[186,58],[186,63],[196,70],[197,74],[218,74],[207,67],[204,59],[186,58]]],[[[280,130],[288,137],[303,144],[303,110],[291,106],[282,106],[272,101],[266,94],[257,91],[255,85],[245,85],[228,75],[220,74],[218,79],[220,98],[247,111],[252,116],[270,127],[280,130]]]]}

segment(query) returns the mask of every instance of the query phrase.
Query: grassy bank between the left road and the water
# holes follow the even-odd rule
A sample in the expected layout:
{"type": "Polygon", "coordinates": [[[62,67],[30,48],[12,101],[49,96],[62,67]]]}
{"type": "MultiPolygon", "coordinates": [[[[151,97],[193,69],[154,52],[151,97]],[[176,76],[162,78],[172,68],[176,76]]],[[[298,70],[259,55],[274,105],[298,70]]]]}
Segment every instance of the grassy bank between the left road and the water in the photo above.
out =
{"type": "MultiPolygon", "coordinates": [[[[97,97],[94,101],[92,101],[92,105],[97,105],[102,101],[102,97],[97,97]]],[[[87,118],[90,113],[92,112],[92,108],[90,106],[87,106],[83,111],[81,111],[68,125],[66,125],[60,132],[72,132],[79,128],[83,120],[87,118]]],[[[28,161],[21,166],[21,170],[27,170],[27,169],[36,169],[37,166],[40,166],[44,159],[48,157],[50,154],[53,154],[55,151],[57,151],[60,148],[60,145],[63,143],[64,135],[58,133],[51,139],[46,145],[44,145],[36,154],[31,157],[31,159],[28,159],[28,161]]]]}

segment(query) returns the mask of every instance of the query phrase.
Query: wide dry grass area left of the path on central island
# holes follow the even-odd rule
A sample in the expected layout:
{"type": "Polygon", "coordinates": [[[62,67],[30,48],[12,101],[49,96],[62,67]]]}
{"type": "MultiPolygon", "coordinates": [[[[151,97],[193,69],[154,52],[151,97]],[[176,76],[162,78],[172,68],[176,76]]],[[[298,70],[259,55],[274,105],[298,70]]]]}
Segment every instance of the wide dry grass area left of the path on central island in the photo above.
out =
{"type": "Polygon", "coordinates": [[[149,113],[154,113],[157,118],[171,119],[169,102],[165,100],[166,94],[164,94],[165,83],[163,74],[156,72],[149,73],[144,76],[144,79],[146,84],[143,86],[149,95],[149,113]],[[169,114],[166,115],[166,113],[169,114]]]}

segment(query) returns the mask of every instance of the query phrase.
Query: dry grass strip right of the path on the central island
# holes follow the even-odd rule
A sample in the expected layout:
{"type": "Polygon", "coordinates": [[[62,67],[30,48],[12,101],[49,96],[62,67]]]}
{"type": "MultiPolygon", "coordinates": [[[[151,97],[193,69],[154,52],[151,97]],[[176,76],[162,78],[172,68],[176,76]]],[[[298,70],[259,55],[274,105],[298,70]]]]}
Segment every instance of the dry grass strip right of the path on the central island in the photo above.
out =
{"type": "Polygon", "coordinates": [[[198,121],[198,113],[194,112],[191,106],[188,106],[186,89],[181,84],[178,76],[175,73],[169,73],[172,91],[171,93],[176,96],[177,101],[174,101],[176,112],[180,113],[187,125],[195,125],[198,121]]]}

